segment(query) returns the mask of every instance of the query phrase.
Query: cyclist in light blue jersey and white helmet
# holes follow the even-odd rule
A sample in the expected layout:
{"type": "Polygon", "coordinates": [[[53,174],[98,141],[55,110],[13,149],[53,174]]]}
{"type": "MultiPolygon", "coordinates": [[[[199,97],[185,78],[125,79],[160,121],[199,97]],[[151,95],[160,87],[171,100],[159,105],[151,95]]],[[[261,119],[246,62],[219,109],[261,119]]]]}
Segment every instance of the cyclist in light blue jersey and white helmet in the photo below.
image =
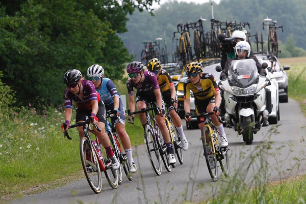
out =
{"type": "Polygon", "coordinates": [[[87,69],[87,76],[95,86],[96,91],[99,93],[101,100],[105,103],[106,110],[111,110],[114,114],[120,116],[124,124],[120,124],[118,119],[111,118],[112,123],[115,124],[116,132],[120,137],[123,149],[126,153],[127,160],[129,160],[130,172],[137,171],[136,164],[133,160],[131,140],[125,131],[125,116],[124,106],[122,104],[120,94],[109,78],[104,77],[104,69],[100,65],[92,65],[87,69]]]}

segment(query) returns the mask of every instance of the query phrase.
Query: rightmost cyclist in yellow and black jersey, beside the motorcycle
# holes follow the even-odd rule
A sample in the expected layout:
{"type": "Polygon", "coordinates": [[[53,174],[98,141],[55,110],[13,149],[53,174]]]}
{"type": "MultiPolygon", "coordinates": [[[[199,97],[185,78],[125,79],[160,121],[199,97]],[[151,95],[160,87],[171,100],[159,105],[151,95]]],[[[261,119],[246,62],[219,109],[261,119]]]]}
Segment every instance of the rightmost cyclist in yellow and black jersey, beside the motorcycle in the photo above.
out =
{"type": "MultiPolygon", "coordinates": [[[[186,112],[184,119],[186,121],[191,120],[190,91],[192,91],[194,95],[195,113],[215,112],[210,117],[220,133],[220,147],[226,147],[228,145],[226,134],[222,123],[217,118],[217,115],[221,113],[219,109],[221,103],[219,88],[214,76],[208,73],[202,73],[202,70],[202,65],[198,62],[192,62],[186,67],[188,78],[184,81],[184,110],[186,112]]],[[[197,118],[197,121],[202,133],[202,129],[205,126],[205,119],[197,118]]]]}

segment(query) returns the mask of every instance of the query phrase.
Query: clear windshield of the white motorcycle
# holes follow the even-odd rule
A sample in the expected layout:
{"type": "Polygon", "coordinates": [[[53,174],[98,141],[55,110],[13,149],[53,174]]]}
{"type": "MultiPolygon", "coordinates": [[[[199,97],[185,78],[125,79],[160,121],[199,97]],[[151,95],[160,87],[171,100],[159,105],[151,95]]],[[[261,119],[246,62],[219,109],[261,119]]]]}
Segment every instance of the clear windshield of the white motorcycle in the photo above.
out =
{"type": "Polygon", "coordinates": [[[228,79],[232,85],[248,86],[258,78],[256,62],[253,59],[233,60],[228,67],[228,79]]]}

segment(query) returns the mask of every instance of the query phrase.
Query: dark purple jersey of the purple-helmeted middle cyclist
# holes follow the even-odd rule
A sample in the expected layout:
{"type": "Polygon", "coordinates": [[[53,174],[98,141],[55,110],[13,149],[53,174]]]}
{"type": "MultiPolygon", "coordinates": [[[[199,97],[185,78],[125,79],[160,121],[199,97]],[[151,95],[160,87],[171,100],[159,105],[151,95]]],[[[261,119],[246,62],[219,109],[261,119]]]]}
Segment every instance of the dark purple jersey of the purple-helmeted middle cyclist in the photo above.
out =
{"type": "Polygon", "coordinates": [[[150,96],[156,89],[160,89],[157,78],[154,73],[144,71],[144,81],[141,83],[134,83],[131,78],[126,81],[127,93],[129,96],[134,96],[133,88],[137,89],[137,95],[150,96]]]}

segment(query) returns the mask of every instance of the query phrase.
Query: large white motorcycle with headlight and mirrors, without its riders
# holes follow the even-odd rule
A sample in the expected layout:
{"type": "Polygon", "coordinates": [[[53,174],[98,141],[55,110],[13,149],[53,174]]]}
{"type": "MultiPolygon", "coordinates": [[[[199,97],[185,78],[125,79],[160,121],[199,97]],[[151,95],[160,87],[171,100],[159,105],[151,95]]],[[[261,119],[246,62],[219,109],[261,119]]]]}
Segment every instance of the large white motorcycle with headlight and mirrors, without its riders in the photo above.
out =
{"type": "MultiPolygon", "coordinates": [[[[267,66],[267,63],[262,64],[264,69],[267,66]]],[[[222,71],[220,66],[216,70],[222,71]]],[[[227,71],[228,77],[221,80],[219,85],[223,91],[224,120],[239,135],[242,134],[246,144],[252,144],[253,134],[268,119],[271,108],[266,107],[265,87],[269,80],[259,75],[253,59],[232,61],[227,71]]]]}

